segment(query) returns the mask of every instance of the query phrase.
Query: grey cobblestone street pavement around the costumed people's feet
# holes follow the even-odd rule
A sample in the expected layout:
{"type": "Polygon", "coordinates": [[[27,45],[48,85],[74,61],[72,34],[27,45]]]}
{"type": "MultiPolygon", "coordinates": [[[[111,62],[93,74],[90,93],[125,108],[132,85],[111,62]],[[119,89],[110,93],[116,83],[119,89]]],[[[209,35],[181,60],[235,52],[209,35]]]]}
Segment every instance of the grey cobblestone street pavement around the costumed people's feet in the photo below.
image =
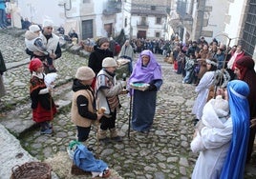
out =
{"type": "MultiPolygon", "coordinates": [[[[16,136],[24,149],[39,160],[53,157],[65,151],[75,139],[75,126],[71,123],[71,86],[75,70],[86,65],[86,59],[63,51],[55,61],[58,70],[53,98],[60,105],[54,117],[53,136],[40,135],[33,125],[30,109],[28,55],[24,52],[24,37],[0,32],[0,49],[10,70],[5,72],[4,82],[8,94],[1,99],[1,124],[16,136]],[[16,105],[17,107],[14,107],[16,105]]],[[[148,134],[131,130],[128,138],[129,100],[120,96],[122,108],[117,114],[117,129],[123,142],[97,146],[96,126],[93,127],[87,146],[123,178],[190,178],[197,154],[189,144],[194,131],[191,108],[196,94],[194,86],[182,84],[181,75],[172,71],[170,64],[157,55],[162,67],[163,85],[158,92],[157,110],[153,128],[148,134]]],[[[246,168],[246,178],[254,178],[255,166],[246,168]]]]}

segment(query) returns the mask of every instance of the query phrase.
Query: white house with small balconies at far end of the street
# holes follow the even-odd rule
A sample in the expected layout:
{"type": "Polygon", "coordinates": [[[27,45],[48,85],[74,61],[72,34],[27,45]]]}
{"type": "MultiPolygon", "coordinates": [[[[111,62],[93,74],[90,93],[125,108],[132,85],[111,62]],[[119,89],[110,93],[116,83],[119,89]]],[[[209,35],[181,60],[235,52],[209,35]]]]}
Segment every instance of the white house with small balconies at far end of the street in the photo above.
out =
{"type": "Polygon", "coordinates": [[[133,0],[131,6],[131,37],[164,39],[170,0],[133,0]]]}

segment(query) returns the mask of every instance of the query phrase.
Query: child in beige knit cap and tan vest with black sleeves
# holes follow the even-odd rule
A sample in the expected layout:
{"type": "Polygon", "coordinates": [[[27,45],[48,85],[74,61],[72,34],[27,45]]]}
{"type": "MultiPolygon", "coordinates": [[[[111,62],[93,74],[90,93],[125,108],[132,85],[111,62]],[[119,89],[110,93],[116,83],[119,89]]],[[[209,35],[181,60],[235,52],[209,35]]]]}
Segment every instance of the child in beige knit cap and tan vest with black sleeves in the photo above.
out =
{"type": "Polygon", "coordinates": [[[76,71],[72,87],[74,94],[71,116],[77,129],[78,142],[83,144],[88,139],[93,122],[103,115],[96,112],[95,92],[91,87],[95,76],[91,68],[80,67],[76,71]]]}

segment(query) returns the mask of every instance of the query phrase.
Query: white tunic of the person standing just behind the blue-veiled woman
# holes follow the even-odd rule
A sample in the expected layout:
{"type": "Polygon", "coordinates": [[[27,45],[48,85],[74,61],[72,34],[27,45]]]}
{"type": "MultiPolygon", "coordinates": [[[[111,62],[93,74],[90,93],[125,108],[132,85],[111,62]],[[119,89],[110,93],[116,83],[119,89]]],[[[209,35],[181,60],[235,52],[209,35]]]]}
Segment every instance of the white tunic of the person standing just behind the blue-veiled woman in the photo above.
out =
{"type": "Polygon", "coordinates": [[[196,114],[197,119],[201,120],[203,114],[203,107],[207,102],[209,88],[214,84],[214,71],[207,71],[203,74],[199,85],[195,91],[198,92],[198,97],[194,103],[192,113],[196,114]]]}

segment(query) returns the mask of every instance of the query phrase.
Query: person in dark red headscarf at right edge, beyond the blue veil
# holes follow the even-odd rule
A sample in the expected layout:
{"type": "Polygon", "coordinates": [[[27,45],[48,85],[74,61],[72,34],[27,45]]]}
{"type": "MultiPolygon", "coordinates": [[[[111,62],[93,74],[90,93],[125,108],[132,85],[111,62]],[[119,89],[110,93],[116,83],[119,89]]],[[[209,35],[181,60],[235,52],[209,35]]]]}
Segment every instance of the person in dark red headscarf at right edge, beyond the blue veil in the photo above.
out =
{"type": "MultiPolygon", "coordinates": [[[[244,56],[235,62],[234,72],[238,79],[245,81],[249,86],[249,95],[247,100],[249,103],[250,121],[256,118],[256,72],[254,70],[254,61],[249,56],[244,56]]],[[[247,149],[246,163],[250,161],[255,139],[256,127],[250,129],[249,142],[247,149]]]]}

